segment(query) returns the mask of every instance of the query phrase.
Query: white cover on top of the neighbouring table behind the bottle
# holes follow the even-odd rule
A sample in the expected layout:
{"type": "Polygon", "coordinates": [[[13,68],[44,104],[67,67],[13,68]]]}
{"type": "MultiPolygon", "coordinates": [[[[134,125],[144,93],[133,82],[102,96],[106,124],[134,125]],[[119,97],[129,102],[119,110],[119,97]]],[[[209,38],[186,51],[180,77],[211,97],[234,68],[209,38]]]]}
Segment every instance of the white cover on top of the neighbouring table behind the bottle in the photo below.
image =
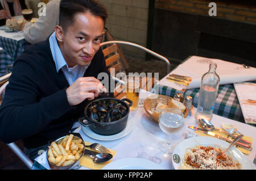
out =
{"type": "MultiPolygon", "coordinates": [[[[170,74],[192,77],[192,82],[186,89],[199,88],[201,84],[201,77],[209,70],[210,61],[217,64],[216,73],[220,76],[220,85],[256,80],[256,68],[251,67],[249,69],[245,69],[242,65],[235,64],[233,62],[199,56],[190,57],[187,61],[180,64],[170,74]]],[[[172,87],[176,90],[183,89],[184,87],[179,85],[177,86],[175,83],[167,81],[166,78],[169,77],[170,74],[161,79],[161,81],[159,81],[159,85],[172,87]]]]}

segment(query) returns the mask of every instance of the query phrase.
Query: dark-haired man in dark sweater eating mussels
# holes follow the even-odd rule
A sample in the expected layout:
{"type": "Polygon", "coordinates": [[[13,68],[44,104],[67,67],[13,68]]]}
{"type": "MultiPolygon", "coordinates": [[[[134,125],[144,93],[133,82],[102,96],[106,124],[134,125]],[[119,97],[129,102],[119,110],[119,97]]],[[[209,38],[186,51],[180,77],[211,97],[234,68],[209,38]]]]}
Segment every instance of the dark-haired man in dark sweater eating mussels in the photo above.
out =
{"type": "Polygon", "coordinates": [[[68,134],[88,100],[106,91],[96,78],[109,74],[100,49],[107,16],[97,1],[61,0],[55,32],[15,61],[0,107],[1,140],[23,139],[34,159],[49,140],[68,134]]]}

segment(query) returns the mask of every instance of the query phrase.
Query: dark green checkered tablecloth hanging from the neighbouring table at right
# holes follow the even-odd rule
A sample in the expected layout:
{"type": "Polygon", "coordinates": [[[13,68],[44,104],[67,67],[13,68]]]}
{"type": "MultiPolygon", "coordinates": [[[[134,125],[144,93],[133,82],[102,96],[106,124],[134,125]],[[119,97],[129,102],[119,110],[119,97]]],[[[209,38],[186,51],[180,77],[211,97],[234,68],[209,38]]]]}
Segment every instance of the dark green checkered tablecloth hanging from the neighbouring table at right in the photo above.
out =
{"type": "MultiPolygon", "coordinates": [[[[190,89],[184,92],[184,96],[192,96],[193,106],[196,108],[199,102],[199,92],[200,88],[190,89]]],[[[176,93],[180,92],[172,89],[171,87],[159,85],[159,94],[174,97],[176,93]]],[[[228,117],[229,119],[243,122],[242,110],[238,102],[233,84],[221,85],[219,87],[213,113],[223,117],[228,117]]]]}

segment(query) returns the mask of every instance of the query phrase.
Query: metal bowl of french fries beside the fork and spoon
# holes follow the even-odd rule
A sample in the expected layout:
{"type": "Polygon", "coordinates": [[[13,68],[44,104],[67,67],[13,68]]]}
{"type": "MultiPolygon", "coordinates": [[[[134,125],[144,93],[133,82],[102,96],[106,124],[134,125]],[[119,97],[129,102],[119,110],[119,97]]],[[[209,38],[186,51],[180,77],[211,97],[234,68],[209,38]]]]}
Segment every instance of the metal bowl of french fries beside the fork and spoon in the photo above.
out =
{"type": "Polygon", "coordinates": [[[69,134],[51,142],[48,148],[49,167],[52,170],[69,170],[79,164],[85,145],[82,138],[69,134]]]}

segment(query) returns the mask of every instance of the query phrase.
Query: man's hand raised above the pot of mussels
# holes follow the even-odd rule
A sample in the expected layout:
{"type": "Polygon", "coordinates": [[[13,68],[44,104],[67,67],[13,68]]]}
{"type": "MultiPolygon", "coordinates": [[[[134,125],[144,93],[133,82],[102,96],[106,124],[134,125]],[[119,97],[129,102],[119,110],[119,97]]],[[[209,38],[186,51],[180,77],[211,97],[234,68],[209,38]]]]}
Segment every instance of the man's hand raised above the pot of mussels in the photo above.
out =
{"type": "Polygon", "coordinates": [[[68,102],[71,106],[80,104],[85,99],[92,100],[106,88],[94,77],[80,77],[66,89],[68,102]]]}

